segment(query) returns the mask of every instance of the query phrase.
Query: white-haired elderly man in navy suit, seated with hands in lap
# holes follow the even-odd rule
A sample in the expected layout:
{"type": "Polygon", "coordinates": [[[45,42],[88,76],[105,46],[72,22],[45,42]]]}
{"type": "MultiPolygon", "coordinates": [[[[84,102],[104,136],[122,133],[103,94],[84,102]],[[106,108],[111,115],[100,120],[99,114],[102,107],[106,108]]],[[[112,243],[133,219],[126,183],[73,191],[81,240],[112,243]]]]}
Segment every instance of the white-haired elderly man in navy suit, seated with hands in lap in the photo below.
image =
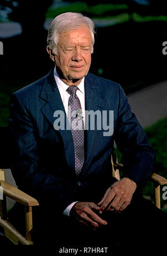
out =
{"type": "Polygon", "coordinates": [[[55,66],[12,95],[9,117],[14,179],[40,202],[34,215],[36,243],[42,237],[64,245],[140,243],[140,231],[149,239],[151,218],[166,218],[141,196],[154,151],[121,86],[89,73],[94,22],[80,13],[63,13],[52,21],[47,43],[55,66]],[[120,181],[111,171],[114,141],[124,163],[120,181]]]}

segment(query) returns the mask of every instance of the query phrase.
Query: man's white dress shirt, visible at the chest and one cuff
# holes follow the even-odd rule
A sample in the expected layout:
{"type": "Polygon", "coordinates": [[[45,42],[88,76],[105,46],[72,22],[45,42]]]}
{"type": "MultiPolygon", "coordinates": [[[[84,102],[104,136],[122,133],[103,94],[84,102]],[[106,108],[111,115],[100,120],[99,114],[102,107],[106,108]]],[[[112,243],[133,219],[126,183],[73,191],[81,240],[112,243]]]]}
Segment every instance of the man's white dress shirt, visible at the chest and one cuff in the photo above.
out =
{"type": "MultiPolygon", "coordinates": [[[[67,93],[66,90],[67,90],[69,85],[66,85],[60,79],[60,77],[57,74],[56,67],[55,67],[53,72],[54,72],[54,77],[55,77],[55,81],[56,81],[58,90],[60,92],[62,103],[63,103],[63,106],[65,108],[66,115],[68,116],[68,99],[70,98],[70,94],[67,93]]],[[[77,85],[77,88],[79,90],[76,91],[76,95],[80,99],[81,108],[82,108],[82,116],[83,116],[83,120],[84,120],[84,124],[85,124],[85,88],[84,88],[84,80],[85,80],[85,78],[82,78],[81,83],[79,85],[77,85]]],[[[70,210],[71,210],[72,206],[75,205],[76,202],[72,202],[72,204],[68,205],[67,208],[63,211],[63,214],[65,214],[67,216],[70,216],[70,210]]]]}

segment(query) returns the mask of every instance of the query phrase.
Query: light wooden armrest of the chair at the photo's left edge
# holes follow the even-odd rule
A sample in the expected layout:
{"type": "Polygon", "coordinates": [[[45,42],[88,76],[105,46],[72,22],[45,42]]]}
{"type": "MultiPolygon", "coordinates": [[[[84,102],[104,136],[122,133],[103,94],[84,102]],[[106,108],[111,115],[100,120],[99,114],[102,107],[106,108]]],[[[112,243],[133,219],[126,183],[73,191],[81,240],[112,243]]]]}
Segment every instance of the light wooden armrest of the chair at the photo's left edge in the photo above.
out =
{"type": "Polygon", "coordinates": [[[1,181],[1,187],[3,189],[3,194],[5,196],[10,197],[11,199],[13,199],[17,202],[20,202],[23,205],[26,205],[26,206],[39,205],[39,203],[36,199],[27,195],[26,193],[17,189],[17,187],[12,186],[11,184],[7,183],[6,181],[1,181]]]}

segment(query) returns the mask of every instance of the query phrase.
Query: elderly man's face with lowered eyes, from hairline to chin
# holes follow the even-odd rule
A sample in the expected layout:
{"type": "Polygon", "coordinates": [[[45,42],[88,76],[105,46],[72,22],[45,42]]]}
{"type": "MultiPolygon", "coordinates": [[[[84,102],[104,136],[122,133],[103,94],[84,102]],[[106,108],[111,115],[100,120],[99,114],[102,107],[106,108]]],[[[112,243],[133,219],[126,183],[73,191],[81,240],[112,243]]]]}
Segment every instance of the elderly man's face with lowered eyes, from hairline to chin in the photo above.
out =
{"type": "Polygon", "coordinates": [[[87,26],[59,34],[57,55],[54,55],[54,59],[58,75],[66,84],[77,85],[87,75],[91,64],[91,40],[87,26]]]}

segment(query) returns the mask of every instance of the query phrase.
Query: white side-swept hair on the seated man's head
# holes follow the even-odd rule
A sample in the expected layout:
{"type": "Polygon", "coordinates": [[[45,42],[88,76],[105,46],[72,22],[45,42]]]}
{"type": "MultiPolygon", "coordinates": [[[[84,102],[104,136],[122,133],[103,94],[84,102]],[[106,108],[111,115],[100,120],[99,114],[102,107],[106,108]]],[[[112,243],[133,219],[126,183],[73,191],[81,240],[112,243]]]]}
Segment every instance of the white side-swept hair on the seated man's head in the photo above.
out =
{"type": "Polygon", "coordinates": [[[84,25],[87,26],[90,30],[92,37],[93,52],[93,46],[95,42],[95,23],[89,17],[83,16],[81,13],[65,12],[54,18],[48,29],[47,44],[52,50],[52,53],[57,54],[56,47],[58,44],[59,33],[66,32],[68,30],[73,30],[84,25]]]}

